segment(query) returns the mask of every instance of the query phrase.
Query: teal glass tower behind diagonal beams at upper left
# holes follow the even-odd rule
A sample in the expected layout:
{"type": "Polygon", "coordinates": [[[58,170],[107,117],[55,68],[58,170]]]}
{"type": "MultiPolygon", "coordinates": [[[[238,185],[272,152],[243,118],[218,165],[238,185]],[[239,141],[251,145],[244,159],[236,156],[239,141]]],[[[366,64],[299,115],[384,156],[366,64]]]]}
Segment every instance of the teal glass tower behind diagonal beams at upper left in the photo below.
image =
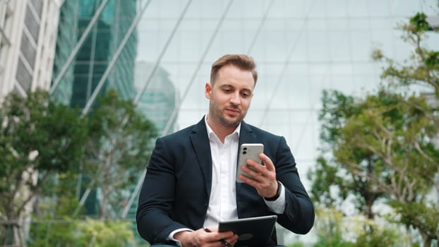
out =
{"type": "Polygon", "coordinates": [[[137,33],[128,30],[136,13],[136,0],[64,1],[56,42],[53,97],[83,108],[99,83],[100,92],[114,88],[124,99],[135,95],[137,33]]]}

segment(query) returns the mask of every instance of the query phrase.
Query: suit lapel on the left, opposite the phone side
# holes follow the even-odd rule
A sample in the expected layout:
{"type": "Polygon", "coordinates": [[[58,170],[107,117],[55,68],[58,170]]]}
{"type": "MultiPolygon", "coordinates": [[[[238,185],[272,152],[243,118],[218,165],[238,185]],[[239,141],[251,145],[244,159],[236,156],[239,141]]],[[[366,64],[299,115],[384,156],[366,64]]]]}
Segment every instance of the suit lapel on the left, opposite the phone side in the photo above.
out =
{"type": "Polygon", "coordinates": [[[193,126],[191,143],[203,173],[205,191],[209,198],[210,189],[212,188],[212,154],[210,152],[208,130],[206,129],[204,118],[193,126]]]}

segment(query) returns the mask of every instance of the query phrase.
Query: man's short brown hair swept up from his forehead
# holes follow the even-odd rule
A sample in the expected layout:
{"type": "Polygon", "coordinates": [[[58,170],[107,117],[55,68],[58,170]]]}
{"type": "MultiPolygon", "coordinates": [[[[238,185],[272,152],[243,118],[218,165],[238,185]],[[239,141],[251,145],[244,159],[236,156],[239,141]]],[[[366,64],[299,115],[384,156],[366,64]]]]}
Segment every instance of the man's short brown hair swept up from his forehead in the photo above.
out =
{"type": "Polygon", "coordinates": [[[220,68],[226,65],[236,66],[243,71],[251,71],[256,85],[256,80],[258,80],[258,72],[256,72],[255,61],[253,61],[251,56],[244,54],[227,54],[215,61],[215,63],[212,64],[212,69],[210,70],[210,83],[215,83],[218,71],[220,71],[220,68]]]}

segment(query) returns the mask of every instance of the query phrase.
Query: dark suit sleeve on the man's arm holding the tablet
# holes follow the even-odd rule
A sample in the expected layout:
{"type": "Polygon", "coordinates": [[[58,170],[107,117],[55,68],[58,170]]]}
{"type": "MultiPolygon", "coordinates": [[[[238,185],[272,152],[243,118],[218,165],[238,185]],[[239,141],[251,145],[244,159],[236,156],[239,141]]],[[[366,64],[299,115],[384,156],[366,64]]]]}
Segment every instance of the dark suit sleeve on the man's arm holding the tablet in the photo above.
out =
{"type": "Polygon", "coordinates": [[[175,229],[186,228],[172,220],[175,198],[174,162],[161,138],[155,144],[139,195],[136,222],[138,232],[150,243],[166,243],[175,229]]]}

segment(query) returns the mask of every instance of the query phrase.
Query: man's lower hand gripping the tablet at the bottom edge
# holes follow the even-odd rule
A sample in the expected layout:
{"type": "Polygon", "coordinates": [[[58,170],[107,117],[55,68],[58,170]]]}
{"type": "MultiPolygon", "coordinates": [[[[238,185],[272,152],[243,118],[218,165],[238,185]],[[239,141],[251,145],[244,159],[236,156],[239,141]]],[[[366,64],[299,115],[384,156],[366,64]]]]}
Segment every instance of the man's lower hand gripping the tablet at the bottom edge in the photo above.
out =
{"type": "Polygon", "coordinates": [[[224,243],[220,239],[224,239],[231,246],[234,246],[238,241],[238,235],[233,231],[218,232],[217,229],[209,228],[211,232],[205,229],[198,229],[196,231],[180,231],[174,235],[174,239],[180,241],[183,247],[224,247],[224,243]]]}

